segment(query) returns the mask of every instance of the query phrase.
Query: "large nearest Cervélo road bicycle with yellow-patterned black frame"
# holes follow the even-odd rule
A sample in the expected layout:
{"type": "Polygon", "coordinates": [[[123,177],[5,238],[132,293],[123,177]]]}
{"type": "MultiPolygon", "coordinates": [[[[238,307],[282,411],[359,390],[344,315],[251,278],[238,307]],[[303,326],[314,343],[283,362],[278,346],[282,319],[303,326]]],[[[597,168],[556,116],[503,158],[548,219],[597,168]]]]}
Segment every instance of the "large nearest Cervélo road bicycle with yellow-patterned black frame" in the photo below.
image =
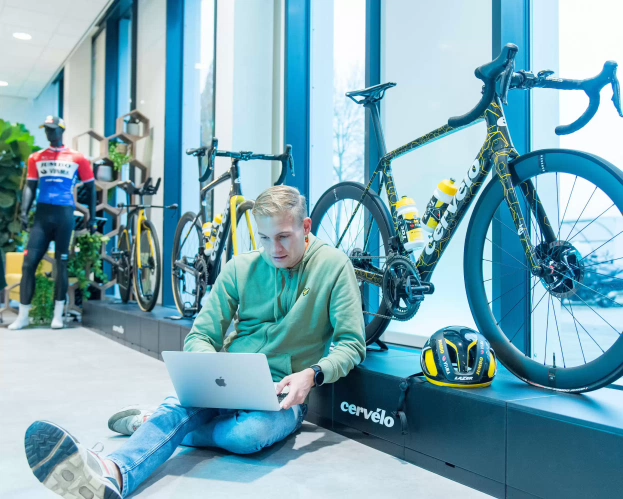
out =
{"type": "Polygon", "coordinates": [[[592,119],[600,90],[611,84],[612,100],[623,116],[617,65],[606,62],[599,75],[587,80],[559,79],[551,71],[514,72],[517,50],[506,45],[497,59],[476,69],[483,96],[472,111],[390,152],[378,103],[395,84],[347,93],[370,110],[381,158],[367,186],[341,182],[322,195],[312,213],[312,231],[350,256],[370,344],[390,320],[412,318],[425,296],[434,292],[433,271],[482,191],[464,249],[466,293],[478,328],[500,361],[522,380],[560,391],[593,390],[623,374],[623,303],[603,287],[620,281],[612,279],[612,269],[600,270],[623,264],[623,174],[608,161],[580,151],[547,149],[520,156],[502,105],[509,90],[583,90],[589,106],[575,122],[556,128],[564,135],[592,119]],[[392,161],[481,120],[487,126],[485,142],[415,255],[405,248],[392,161]],[[379,196],[383,187],[389,210],[379,196]],[[585,237],[600,224],[608,225],[611,237],[592,246],[580,244],[578,235],[585,237]],[[585,275],[600,273],[605,276],[600,285],[595,279],[585,282],[585,275]],[[587,299],[587,294],[611,306],[599,308],[598,300],[587,299]]]}

